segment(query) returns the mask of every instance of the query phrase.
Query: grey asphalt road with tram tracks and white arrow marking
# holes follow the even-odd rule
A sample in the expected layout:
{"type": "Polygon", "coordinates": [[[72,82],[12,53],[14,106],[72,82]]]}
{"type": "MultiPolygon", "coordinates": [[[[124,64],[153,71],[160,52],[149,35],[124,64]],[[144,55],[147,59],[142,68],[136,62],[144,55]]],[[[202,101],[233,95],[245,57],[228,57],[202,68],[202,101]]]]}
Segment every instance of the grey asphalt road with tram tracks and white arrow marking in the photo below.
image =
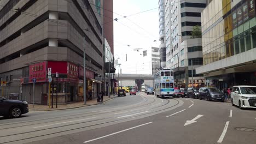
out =
{"type": "Polygon", "coordinates": [[[256,143],[256,111],[137,93],[101,105],[0,117],[0,143],[256,143]]]}

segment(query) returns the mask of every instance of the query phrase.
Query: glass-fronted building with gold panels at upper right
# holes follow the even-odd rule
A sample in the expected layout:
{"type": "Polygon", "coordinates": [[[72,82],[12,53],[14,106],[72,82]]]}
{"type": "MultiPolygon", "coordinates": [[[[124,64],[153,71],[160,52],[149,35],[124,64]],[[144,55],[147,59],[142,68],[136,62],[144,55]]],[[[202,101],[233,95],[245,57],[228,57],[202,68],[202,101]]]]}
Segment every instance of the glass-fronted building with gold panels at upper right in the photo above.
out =
{"type": "Polygon", "coordinates": [[[202,11],[203,66],[208,85],[256,85],[255,0],[212,0],[202,11]]]}

